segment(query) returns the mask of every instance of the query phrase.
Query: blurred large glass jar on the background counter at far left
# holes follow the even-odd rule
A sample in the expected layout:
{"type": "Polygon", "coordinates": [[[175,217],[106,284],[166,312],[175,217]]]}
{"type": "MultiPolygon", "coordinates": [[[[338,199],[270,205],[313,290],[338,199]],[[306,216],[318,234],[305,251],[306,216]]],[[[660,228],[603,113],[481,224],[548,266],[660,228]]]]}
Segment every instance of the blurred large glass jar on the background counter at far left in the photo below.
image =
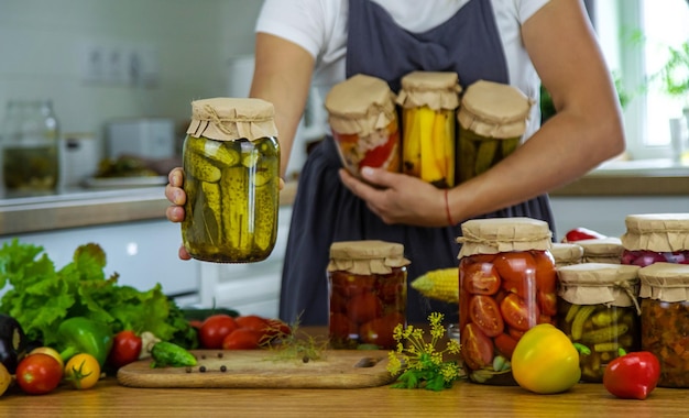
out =
{"type": "Polygon", "coordinates": [[[6,121],[2,177],[8,193],[54,193],[59,176],[59,129],[52,102],[11,101],[6,121]]]}

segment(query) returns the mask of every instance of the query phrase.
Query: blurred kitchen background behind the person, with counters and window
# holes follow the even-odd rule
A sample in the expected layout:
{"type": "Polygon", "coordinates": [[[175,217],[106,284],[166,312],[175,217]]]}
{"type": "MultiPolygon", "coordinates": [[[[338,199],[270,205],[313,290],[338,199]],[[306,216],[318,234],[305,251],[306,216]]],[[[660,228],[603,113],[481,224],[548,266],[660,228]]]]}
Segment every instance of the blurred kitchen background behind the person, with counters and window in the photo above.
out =
{"type": "MultiPolygon", "coordinates": [[[[554,194],[554,208],[559,232],[583,226],[615,235],[624,230],[626,213],[689,209],[689,193],[668,188],[689,174],[689,4],[586,3],[617,80],[628,150],[583,186],[554,194]],[[628,186],[648,177],[660,178],[664,186],[655,191],[645,180],[638,190],[628,186]],[[627,186],[619,186],[625,178],[627,186]],[[600,185],[612,185],[605,186],[611,190],[600,185]]],[[[141,288],[162,283],[183,304],[276,315],[288,197],[273,255],[253,265],[177,260],[179,228],[164,219],[164,175],[181,162],[190,102],[249,91],[261,4],[0,0],[2,146],[11,144],[8,132],[17,120],[11,109],[22,108],[25,116],[32,106],[34,123],[50,121],[45,111],[52,109],[57,130],[51,132],[58,144],[54,190],[8,190],[1,182],[0,242],[20,238],[43,245],[57,264],[69,261],[77,245],[98,242],[108,254],[108,268],[120,273],[122,283],[141,288]],[[139,173],[145,175],[106,176],[106,168],[122,168],[106,164],[122,155],[141,158],[144,167],[134,168],[146,169],[139,173]]],[[[325,131],[321,100],[311,95],[291,178],[298,176],[308,145],[325,131]]],[[[6,177],[25,168],[18,161],[3,162],[15,163],[6,177]]]]}

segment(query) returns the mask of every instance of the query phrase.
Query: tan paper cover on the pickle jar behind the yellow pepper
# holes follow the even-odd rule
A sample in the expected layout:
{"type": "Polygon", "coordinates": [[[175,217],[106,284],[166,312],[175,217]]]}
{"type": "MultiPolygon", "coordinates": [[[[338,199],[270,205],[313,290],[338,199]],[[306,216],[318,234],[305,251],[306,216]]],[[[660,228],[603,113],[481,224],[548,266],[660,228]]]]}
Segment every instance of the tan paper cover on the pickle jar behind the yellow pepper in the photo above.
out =
{"type": "Polygon", "coordinates": [[[638,305],[639,266],[614,263],[582,263],[558,267],[558,296],[572,305],[638,305]]]}

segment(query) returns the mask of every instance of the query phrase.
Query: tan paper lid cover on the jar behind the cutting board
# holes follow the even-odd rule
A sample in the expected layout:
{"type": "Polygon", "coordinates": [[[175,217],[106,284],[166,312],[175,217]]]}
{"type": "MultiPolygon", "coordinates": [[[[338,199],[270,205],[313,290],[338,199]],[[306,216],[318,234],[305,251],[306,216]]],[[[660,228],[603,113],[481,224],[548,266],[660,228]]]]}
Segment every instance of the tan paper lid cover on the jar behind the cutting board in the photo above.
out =
{"type": "Polygon", "coordinates": [[[328,272],[349,272],[359,275],[389,274],[394,267],[411,262],[404,257],[400,243],[364,240],[338,241],[330,245],[328,272]]]}

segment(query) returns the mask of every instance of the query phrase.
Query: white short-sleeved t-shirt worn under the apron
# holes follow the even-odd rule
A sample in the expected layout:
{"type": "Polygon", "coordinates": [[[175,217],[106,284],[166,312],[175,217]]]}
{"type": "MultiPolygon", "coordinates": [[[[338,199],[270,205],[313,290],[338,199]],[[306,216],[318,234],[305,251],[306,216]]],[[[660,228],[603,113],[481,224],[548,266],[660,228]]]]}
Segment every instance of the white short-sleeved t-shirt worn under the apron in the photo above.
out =
{"type": "MultiPolygon", "coordinates": [[[[452,16],[469,0],[372,0],[409,32],[425,32],[452,16]]],[[[482,0],[481,0],[482,1],[482,0]]],[[[549,0],[491,0],[500,32],[510,84],[533,100],[540,81],[524,44],[521,25],[549,0]]],[[[313,85],[325,97],[330,87],[344,79],[347,16],[349,0],[264,0],[255,31],[286,38],[316,58],[313,85]]],[[[538,125],[533,107],[526,138],[538,125]]]]}

